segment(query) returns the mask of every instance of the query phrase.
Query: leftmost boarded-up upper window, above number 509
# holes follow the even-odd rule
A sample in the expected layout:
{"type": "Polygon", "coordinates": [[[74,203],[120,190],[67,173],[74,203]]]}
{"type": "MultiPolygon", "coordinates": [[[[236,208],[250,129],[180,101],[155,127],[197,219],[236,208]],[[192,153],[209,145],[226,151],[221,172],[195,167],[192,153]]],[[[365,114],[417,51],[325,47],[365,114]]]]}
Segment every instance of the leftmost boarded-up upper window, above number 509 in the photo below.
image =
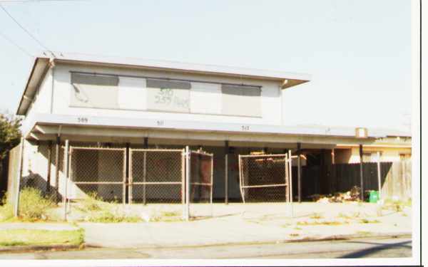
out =
{"type": "Polygon", "coordinates": [[[118,77],[71,73],[70,105],[118,108],[118,77]]]}

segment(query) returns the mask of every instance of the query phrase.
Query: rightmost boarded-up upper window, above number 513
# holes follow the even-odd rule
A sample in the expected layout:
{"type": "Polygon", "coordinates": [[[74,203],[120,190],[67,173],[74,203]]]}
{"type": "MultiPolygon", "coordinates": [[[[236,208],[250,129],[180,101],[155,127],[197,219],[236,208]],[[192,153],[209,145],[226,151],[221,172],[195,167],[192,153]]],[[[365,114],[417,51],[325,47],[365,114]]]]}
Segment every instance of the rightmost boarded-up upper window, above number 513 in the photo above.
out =
{"type": "Polygon", "coordinates": [[[261,116],[261,89],[250,86],[222,85],[222,114],[261,116]]]}

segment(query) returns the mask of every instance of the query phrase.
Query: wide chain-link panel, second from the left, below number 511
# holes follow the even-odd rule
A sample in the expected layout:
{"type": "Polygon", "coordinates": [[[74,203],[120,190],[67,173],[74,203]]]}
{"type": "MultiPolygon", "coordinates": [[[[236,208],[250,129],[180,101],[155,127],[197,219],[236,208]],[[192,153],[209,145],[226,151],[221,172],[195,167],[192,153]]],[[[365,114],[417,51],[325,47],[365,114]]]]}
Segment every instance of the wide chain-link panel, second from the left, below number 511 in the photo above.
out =
{"type": "Polygon", "coordinates": [[[130,204],[184,204],[184,150],[130,149],[129,153],[130,204]]]}

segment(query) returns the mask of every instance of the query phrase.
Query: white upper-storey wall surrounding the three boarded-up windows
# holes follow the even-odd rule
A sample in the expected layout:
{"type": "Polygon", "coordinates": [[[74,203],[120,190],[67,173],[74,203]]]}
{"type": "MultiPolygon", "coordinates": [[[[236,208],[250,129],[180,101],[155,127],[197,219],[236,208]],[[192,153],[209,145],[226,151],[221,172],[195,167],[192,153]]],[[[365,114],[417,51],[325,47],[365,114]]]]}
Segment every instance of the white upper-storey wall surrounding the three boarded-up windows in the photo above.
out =
{"type": "MultiPolygon", "coordinates": [[[[46,76],[46,79],[49,79],[46,76]]],[[[198,88],[203,84],[198,84],[198,88]]],[[[198,103],[191,110],[203,110],[203,105],[206,105],[207,112],[213,112],[219,110],[220,107],[217,105],[221,104],[221,95],[218,95],[218,90],[213,88],[212,84],[207,84],[206,90],[191,90],[190,94],[190,105],[192,105],[192,96],[198,95],[199,99],[205,99],[206,103],[198,103]],[[213,92],[210,92],[210,87],[213,92]]],[[[46,92],[49,90],[46,90],[46,92]]],[[[221,92],[221,91],[220,91],[221,92]]],[[[281,96],[280,96],[280,83],[268,80],[253,80],[253,79],[239,79],[239,78],[228,78],[218,77],[212,75],[195,75],[186,73],[168,73],[153,70],[136,70],[132,68],[101,68],[93,66],[67,66],[57,64],[54,70],[54,92],[53,92],[53,107],[52,112],[54,114],[61,115],[99,115],[104,117],[136,117],[136,118],[149,118],[156,120],[195,120],[195,121],[206,121],[206,122],[230,122],[230,123],[248,123],[248,124],[260,124],[260,125],[281,125],[281,96]],[[246,85],[261,85],[261,116],[260,117],[243,117],[243,116],[230,116],[230,115],[213,115],[213,114],[197,114],[195,113],[178,113],[178,112],[155,112],[145,110],[135,110],[132,107],[137,105],[135,101],[135,94],[126,93],[131,91],[132,87],[129,83],[129,78],[124,78],[123,83],[119,81],[119,104],[129,103],[129,109],[100,109],[100,108],[73,108],[70,107],[71,98],[71,73],[70,71],[83,71],[89,73],[113,73],[116,75],[138,75],[138,76],[152,76],[162,78],[178,78],[188,80],[204,80],[220,83],[244,83],[246,85]],[[123,89],[121,91],[121,89],[123,89]]],[[[46,95],[46,100],[50,100],[50,97],[46,95]]],[[[144,105],[143,103],[141,104],[144,105]]],[[[49,106],[49,103],[47,103],[49,106]]],[[[121,108],[126,105],[121,105],[121,108]]],[[[49,112],[49,110],[43,110],[43,112],[49,112]]],[[[34,112],[32,110],[31,112],[34,112]]],[[[39,110],[38,112],[41,112],[39,110]]],[[[200,112],[198,112],[200,113],[200,112]]]]}

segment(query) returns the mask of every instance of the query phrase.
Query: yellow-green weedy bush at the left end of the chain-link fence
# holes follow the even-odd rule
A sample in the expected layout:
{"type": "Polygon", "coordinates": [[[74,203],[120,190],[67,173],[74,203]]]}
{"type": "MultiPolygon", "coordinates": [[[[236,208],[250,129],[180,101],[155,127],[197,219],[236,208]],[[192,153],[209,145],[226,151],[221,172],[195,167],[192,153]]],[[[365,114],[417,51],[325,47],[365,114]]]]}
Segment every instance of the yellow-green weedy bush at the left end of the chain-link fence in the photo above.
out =
{"type": "Polygon", "coordinates": [[[24,221],[46,220],[47,210],[54,206],[54,201],[44,197],[39,189],[25,187],[19,195],[19,218],[24,221]]]}

